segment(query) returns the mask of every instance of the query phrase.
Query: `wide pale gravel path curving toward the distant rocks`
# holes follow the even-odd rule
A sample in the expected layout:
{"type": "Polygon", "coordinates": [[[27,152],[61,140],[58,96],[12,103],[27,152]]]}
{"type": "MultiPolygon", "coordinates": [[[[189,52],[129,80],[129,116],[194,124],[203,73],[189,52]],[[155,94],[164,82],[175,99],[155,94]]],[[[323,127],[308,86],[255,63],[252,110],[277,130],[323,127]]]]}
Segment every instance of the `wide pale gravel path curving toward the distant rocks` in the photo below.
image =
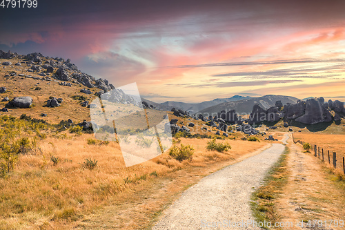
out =
{"type": "Polygon", "coordinates": [[[250,194],[284,148],[283,144],[273,144],[258,155],[203,178],[182,193],[152,229],[255,229],[253,224],[245,228],[227,224],[253,220],[250,194]]]}

